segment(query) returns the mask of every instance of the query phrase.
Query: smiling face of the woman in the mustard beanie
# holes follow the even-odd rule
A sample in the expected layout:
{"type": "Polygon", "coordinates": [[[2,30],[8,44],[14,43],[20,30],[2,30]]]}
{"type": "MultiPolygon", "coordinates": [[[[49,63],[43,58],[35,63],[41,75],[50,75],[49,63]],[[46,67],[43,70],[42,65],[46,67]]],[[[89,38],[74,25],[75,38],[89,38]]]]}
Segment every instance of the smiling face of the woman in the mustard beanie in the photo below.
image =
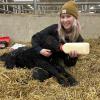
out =
{"type": "Polygon", "coordinates": [[[70,30],[73,26],[74,17],[70,14],[61,14],[60,15],[60,23],[64,27],[65,30],[70,30]]]}

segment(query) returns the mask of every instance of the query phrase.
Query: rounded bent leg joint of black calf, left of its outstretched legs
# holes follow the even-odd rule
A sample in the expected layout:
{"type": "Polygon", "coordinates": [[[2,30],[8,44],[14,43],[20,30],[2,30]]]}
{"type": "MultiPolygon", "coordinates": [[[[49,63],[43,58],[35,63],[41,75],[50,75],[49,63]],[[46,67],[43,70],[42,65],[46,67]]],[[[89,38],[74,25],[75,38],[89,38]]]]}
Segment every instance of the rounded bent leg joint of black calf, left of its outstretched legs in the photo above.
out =
{"type": "Polygon", "coordinates": [[[39,67],[34,67],[32,72],[32,78],[43,82],[45,79],[50,77],[49,73],[39,67]]]}

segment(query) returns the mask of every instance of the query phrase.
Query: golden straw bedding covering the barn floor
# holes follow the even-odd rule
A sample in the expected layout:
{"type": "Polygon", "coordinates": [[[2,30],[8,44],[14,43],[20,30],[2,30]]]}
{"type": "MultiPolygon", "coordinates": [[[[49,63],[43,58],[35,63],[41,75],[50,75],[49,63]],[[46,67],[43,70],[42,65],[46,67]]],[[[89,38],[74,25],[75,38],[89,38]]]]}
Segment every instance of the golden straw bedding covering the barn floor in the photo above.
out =
{"type": "MultiPolygon", "coordinates": [[[[87,41],[90,54],[81,56],[69,69],[77,86],[62,87],[54,78],[41,83],[32,80],[32,70],[8,70],[0,62],[0,100],[100,100],[100,38],[87,41]]],[[[8,50],[0,50],[4,52],[8,50]]]]}

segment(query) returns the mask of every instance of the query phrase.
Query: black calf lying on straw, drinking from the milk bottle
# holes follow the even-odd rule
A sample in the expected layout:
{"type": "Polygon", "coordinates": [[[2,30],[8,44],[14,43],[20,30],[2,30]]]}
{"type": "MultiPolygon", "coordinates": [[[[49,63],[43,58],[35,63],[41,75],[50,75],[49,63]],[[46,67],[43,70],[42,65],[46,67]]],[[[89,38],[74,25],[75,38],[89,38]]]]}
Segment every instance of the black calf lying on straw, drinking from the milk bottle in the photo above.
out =
{"type": "MultiPolygon", "coordinates": [[[[51,36],[47,38],[43,47],[51,49],[53,53],[59,51],[59,43],[51,36]]],[[[54,76],[58,83],[64,86],[74,85],[76,83],[75,79],[62,66],[54,64],[55,61],[52,60],[56,60],[55,58],[57,57],[51,56],[47,58],[37,54],[32,47],[21,47],[10,53],[3,54],[0,60],[5,61],[5,67],[9,69],[13,67],[33,68],[33,78],[40,81],[54,76]]]]}

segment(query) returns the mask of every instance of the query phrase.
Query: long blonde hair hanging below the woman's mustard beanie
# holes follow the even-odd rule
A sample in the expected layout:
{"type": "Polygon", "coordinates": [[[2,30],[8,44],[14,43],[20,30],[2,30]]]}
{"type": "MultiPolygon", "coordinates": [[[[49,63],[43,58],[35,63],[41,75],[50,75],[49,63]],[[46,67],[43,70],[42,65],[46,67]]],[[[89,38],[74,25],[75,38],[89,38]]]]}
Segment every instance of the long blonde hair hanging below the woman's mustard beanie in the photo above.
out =
{"type": "Polygon", "coordinates": [[[63,42],[67,42],[65,38],[67,37],[70,42],[75,42],[79,36],[79,33],[81,31],[81,26],[79,21],[74,18],[74,22],[72,25],[73,31],[71,33],[66,33],[65,30],[62,28],[60,21],[58,22],[58,34],[59,39],[63,40],[63,42]]]}

